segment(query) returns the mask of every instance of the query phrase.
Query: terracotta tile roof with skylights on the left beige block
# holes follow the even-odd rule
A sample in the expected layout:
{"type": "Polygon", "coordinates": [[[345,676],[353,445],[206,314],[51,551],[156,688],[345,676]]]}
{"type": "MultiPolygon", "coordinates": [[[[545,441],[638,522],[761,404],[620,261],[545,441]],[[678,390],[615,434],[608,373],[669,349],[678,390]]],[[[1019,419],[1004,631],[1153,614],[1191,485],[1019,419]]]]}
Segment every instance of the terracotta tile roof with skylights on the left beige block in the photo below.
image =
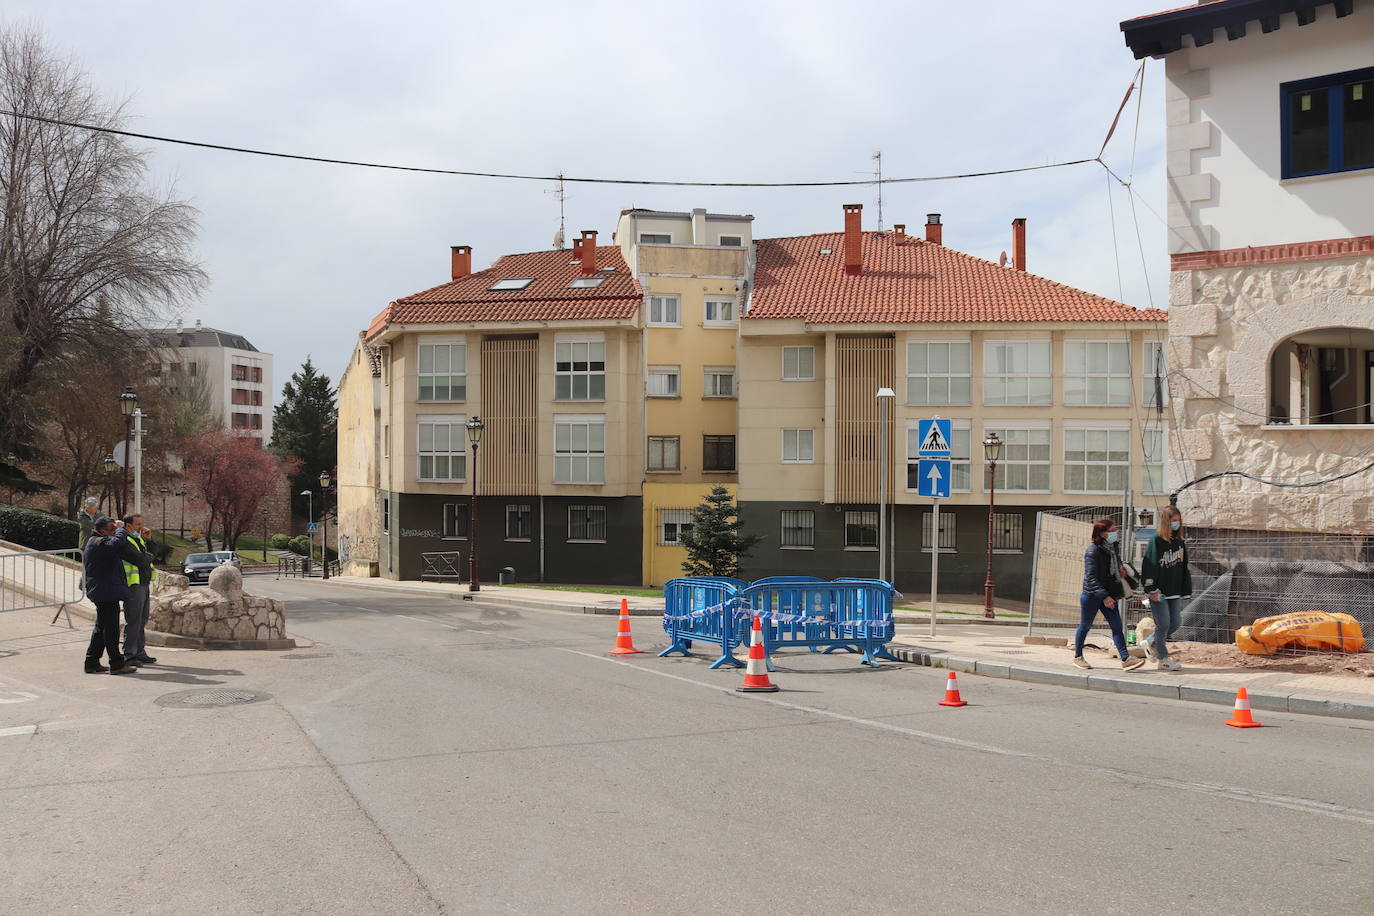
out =
{"type": "Polygon", "coordinates": [[[598,269],[614,269],[598,271],[595,276],[605,279],[592,288],[569,288],[583,276],[581,264],[573,264],[572,257],[567,249],[503,255],[485,271],[396,299],[372,319],[367,339],[392,323],[585,321],[635,314],[644,294],[629,275],[618,246],[596,246],[598,269]],[[523,290],[489,288],[507,277],[534,277],[534,282],[523,290]]]}

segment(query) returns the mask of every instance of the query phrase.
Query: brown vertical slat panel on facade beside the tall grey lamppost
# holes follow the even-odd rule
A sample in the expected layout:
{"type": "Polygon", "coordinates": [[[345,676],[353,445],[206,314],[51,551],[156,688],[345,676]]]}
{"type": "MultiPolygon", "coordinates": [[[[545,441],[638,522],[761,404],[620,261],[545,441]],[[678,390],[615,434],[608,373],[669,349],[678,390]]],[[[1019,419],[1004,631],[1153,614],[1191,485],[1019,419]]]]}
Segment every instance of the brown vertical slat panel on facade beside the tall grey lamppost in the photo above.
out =
{"type": "MultiPolygon", "coordinates": [[[[835,338],[835,501],[878,501],[878,389],[892,387],[892,336],[835,338]]],[[[893,413],[888,416],[888,493],[896,479],[893,413]]]]}

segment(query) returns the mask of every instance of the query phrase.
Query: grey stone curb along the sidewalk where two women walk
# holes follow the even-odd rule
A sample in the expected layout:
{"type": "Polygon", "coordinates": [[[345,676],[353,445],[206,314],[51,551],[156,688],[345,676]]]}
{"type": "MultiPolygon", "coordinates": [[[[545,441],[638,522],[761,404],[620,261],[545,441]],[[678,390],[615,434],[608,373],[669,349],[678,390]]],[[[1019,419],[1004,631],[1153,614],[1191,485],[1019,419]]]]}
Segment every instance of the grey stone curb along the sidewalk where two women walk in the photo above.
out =
{"type": "MultiPolygon", "coordinates": [[[[1051,684],[1054,687],[1073,687],[1088,691],[1103,691],[1107,694],[1134,694],[1136,696],[1161,696],[1165,699],[1191,700],[1195,703],[1213,703],[1216,706],[1231,706],[1235,694],[1220,687],[1201,687],[1197,684],[1165,684],[1161,681],[1147,681],[1139,677],[1113,677],[1110,674],[1076,674],[1073,672],[1058,672],[1044,667],[1029,667],[1003,662],[987,662],[959,655],[947,655],[943,650],[930,650],[919,645],[892,645],[888,651],[896,658],[910,665],[923,665],[926,667],[945,667],[960,674],[982,674],[985,677],[1003,677],[1013,681],[1026,681],[1029,684],[1051,684]]],[[[1297,694],[1268,694],[1250,691],[1250,706],[1254,709],[1271,710],[1275,713],[1300,713],[1303,715],[1330,715],[1336,718],[1359,718],[1374,721],[1374,703],[1359,700],[1326,699],[1320,696],[1301,696],[1297,694]]]]}

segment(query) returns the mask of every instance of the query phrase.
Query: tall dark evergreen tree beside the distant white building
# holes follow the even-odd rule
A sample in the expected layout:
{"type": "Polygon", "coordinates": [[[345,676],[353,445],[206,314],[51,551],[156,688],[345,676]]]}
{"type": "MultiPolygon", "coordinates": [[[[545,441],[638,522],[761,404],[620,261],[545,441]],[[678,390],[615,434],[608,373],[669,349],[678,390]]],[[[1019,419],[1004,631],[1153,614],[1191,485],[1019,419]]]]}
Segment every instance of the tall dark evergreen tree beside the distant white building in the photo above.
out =
{"type": "MultiPolygon", "coordinates": [[[[282,402],[272,411],[272,450],[295,460],[290,475],[291,504],[305,515],[306,500],[301,490],[320,489],[320,471],[334,472],[338,464],[338,391],[330,376],[320,375],[305,357],[298,372],[282,386],[282,402]]],[[[315,507],[323,501],[316,493],[315,507]]]]}

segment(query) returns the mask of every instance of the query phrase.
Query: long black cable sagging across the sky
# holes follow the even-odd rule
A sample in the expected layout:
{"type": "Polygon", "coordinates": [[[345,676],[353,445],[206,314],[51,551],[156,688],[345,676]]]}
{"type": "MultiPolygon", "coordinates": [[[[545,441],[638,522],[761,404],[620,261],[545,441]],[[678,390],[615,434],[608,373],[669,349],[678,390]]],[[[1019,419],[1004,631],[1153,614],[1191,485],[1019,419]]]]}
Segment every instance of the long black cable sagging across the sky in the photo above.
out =
{"type": "Polygon", "coordinates": [[[385,162],[361,162],[357,159],[335,159],[331,157],[302,155],[297,152],[273,152],[271,150],[254,150],[251,147],[235,147],[223,143],[205,143],[201,140],[183,140],[179,137],[164,137],[154,133],[137,133],[135,130],[120,130],[78,121],[62,121],[59,118],[44,118],[37,114],[23,114],[19,111],[0,110],[0,115],[54,124],[78,130],[92,130],[95,133],[111,133],[136,140],[153,140],[155,143],[174,143],[185,147],[199,147],[202,150],[221,150],[224,152],[243,152],[246,155],[264,155],[275,159],[297,159],[300,162],[323,162],[328,165],[352,165],[363,169],[389,169],[393,172],[420,172],[426,174],[456,174],[470,179],[510,179],[517,181],[577,181],[580,184],[633,184],[657,185],[675,188],[837,188],[872,184],[911,184],[915,181],[952,181],[956,179],[985,179],[995,174],[1015,174],[1018,172],[1043,172],[1044,169],[1062,169],[1072,165],[1098,162],[1098,159],[1068,159],[1063,162],[1047,162],[1044,165],[1026,165],[1014,169],[992,169],[988,172],[960,172],[956,174],[926,174],[905,179],[863,179],[857,181],[668,181],[658,179],[588,179],[565,174],[519,174],[513,172],[477,172],[469,169],[429,169],[414,165],[389,165],[385,162]]]}

